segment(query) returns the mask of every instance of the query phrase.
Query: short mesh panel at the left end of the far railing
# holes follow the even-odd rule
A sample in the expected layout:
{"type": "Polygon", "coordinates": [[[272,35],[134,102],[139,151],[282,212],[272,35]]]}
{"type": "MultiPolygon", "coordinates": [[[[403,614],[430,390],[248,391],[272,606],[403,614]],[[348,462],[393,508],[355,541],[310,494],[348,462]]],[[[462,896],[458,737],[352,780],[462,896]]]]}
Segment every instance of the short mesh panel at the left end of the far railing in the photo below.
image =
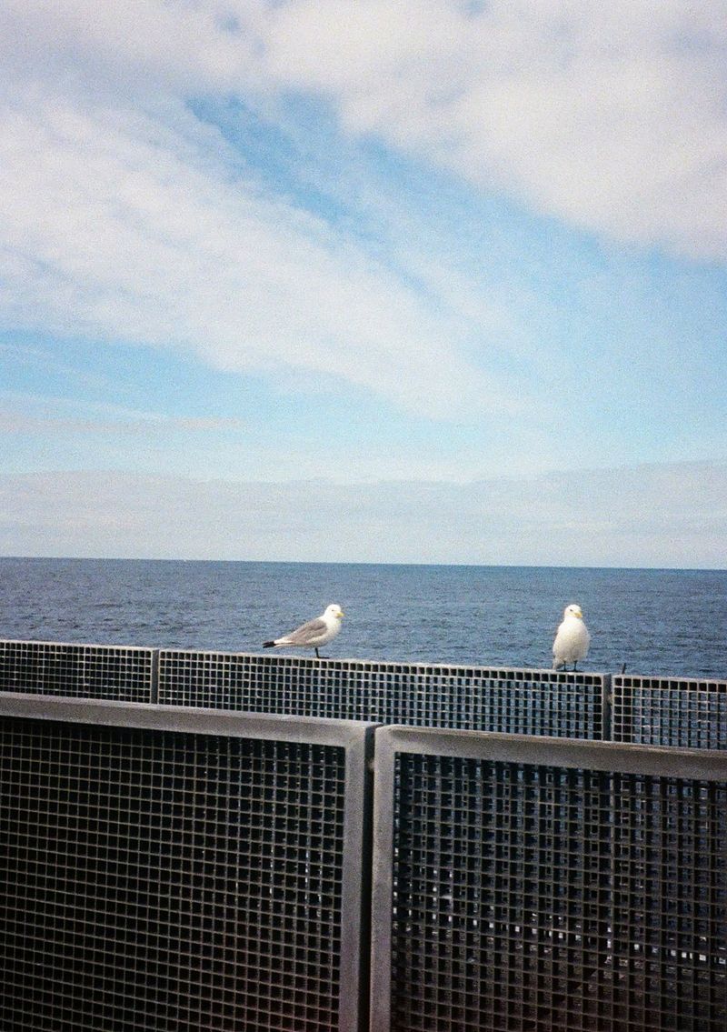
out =
{"type": "Polygon", "coordinates": [[[0,690],[147,703],[156,654],[148,648],[0,641],[0,690]]]}

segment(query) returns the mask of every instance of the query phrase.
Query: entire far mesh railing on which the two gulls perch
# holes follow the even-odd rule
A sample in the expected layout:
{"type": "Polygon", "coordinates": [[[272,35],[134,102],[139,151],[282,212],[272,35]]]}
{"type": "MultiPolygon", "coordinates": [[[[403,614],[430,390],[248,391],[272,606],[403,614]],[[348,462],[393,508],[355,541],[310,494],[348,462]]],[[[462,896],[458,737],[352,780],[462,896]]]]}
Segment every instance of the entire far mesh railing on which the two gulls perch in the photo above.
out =
{"type": "Polygon", "coordinates": [[[0,690],[727,749],[727,680],[0,641],[0,690]]]}

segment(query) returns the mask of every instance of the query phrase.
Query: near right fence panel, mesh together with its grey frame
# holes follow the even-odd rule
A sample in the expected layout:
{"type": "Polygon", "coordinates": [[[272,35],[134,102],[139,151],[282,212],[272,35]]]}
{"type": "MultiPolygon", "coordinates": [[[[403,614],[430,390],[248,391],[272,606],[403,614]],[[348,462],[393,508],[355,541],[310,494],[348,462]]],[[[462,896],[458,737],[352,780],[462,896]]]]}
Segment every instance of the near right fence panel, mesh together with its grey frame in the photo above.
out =
{"type": "Polygon", "coordinates": [[[383,729],[373,1032],[723,1032],[727,756],[383,729]]]}

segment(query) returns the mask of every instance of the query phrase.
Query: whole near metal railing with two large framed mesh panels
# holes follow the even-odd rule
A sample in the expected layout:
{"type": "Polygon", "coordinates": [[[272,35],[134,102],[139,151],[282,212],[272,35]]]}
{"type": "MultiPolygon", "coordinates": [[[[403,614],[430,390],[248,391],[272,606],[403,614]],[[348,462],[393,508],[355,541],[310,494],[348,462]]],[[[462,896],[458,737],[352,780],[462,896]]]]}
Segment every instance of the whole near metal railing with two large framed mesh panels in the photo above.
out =
{"type": "Polygon", "coordinates": [[[725,750],[9,691],[0,796],[2,1027],[727,1025],[725,750]]]}

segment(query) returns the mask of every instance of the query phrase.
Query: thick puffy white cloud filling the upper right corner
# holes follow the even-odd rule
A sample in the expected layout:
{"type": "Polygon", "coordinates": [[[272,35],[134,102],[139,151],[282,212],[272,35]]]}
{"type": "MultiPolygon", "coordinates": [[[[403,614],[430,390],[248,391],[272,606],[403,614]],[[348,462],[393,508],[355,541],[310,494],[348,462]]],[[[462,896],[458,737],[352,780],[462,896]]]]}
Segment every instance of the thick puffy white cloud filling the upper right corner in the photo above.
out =
{"type": "Polygon", "coordinates": [[[301,0],[277,80],[586,230],[727,257],[727,5],[301,0]]]}

